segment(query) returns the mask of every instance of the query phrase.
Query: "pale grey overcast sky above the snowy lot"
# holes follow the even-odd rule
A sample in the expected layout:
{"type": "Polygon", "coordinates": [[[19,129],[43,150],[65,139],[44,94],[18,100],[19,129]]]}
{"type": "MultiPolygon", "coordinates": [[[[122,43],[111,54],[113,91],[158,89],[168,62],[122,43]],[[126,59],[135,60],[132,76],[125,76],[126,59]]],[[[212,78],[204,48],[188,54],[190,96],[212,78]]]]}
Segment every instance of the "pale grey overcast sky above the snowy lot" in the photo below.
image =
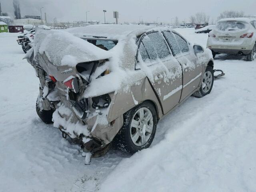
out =
{"type": "MultiPolygon", "coordinates": [[[[18,0],[20,2],[21,16],[38,15],[40,7],[42,14],[47,13],[48,22],[56,17],[58,21],[73,22],[86,20],[99,20],[114,22],[113,11],[119,12],[119,22],[143,21],[170,22],[171,18],[178,16],[180,22],[189,22],[189,17],[196,12],[205,12],[216,20],[224,10],[244,11],[247,15],[256,15],[256,0],[18,0]]],[[[2,11],[13,16],[12,0],[0,0],[2,11]]],[[[43,16],[44,18],[44,16],[43,16]]],[[[211,20],[210,19],[210,20],[211,20]]],[[[174,22],[174,20],[172,20],[174,22]]]]}

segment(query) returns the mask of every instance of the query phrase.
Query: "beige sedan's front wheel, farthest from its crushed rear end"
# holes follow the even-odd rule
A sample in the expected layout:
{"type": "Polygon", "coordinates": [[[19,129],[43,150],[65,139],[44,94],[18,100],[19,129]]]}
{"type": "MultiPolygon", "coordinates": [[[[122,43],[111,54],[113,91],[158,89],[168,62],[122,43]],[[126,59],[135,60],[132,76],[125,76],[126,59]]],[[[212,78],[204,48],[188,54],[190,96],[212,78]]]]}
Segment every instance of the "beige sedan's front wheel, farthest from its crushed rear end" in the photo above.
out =
{"type": "Polygon", "coordinates": [[[214,82],[214,72],[213,68],[211,66],[207,66],[205,72],[204,72],[204,78],[202,85],[198,91],[196,91],[193,95],[195,97],[203,97],[209,94],[212,90],[214,82]]]}

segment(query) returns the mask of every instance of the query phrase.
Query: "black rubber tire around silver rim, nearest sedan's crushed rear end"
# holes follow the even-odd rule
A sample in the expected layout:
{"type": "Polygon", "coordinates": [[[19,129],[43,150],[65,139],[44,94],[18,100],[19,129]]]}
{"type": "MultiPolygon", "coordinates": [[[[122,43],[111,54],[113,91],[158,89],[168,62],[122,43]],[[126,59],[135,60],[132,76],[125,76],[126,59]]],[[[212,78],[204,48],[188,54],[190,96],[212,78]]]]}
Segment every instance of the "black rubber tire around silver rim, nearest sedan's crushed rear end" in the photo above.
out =
{"type": "Polygon", "coordinates": [[[120,131],[118,132],[116,137],[114,138],[113,143],[117,149],[120,149],[123,152],[129,153],[129,154],[134,154],[135,152],[137,152],[139,150],[148,148],[154,139],[154,136],[156,133],[156,124],[157,124],[157,115],[156,115],[156,109],[155,109],[154,105],[148,101],[143,102],[143,103],[139,104],[138,106],[135,106],[134,108],[132,108],[131,110],[129,110],[128,112],[126,112],[124,114],[124,125],[122,126],[122,128],[120,129],[120,131]],[[136,144],[134,144],[134,142],[132,141],[132,138],[131,138],[132,118],[134,117],[136,112],[138,112],[138,110],[140,108],[148,108],[150,110],[150,112],[152,113],[152,117],[153,117],[152,133],[151,133],[149,139],[147,140],[146,144],[144,144],[143,146],[137,146],[136,144]]]}

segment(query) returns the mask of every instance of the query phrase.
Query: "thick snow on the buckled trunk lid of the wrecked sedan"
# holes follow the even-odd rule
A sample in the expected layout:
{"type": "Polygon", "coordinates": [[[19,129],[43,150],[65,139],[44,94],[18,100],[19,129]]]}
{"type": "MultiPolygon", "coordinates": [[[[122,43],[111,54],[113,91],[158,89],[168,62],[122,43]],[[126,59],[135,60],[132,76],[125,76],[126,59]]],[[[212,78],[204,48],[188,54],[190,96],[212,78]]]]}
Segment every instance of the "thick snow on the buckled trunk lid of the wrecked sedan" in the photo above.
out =
{"type": "Polygon", "coordinates": [[[46,54],[54,66],[75,67],[81,62],[111,58],[111,54],[93,44],[63,31],[38,28],[34,38],[34,57],[46,54]]]}

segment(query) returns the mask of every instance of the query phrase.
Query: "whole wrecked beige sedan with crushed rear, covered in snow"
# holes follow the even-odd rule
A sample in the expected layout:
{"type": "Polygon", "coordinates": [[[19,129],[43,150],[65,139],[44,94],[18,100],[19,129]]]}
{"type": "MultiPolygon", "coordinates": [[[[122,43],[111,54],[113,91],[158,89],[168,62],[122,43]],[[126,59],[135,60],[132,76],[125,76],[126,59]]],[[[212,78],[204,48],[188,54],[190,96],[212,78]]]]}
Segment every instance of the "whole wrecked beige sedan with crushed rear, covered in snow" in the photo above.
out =
{"type": "Polygon", "coordinates": [[[25,58],[40,79],[38,116],[80,144],[86,163],[110,144],[131,154],[148,148],[158,120],[214,82],[211,51],[170,28],[38,29],[25,58]]]}

